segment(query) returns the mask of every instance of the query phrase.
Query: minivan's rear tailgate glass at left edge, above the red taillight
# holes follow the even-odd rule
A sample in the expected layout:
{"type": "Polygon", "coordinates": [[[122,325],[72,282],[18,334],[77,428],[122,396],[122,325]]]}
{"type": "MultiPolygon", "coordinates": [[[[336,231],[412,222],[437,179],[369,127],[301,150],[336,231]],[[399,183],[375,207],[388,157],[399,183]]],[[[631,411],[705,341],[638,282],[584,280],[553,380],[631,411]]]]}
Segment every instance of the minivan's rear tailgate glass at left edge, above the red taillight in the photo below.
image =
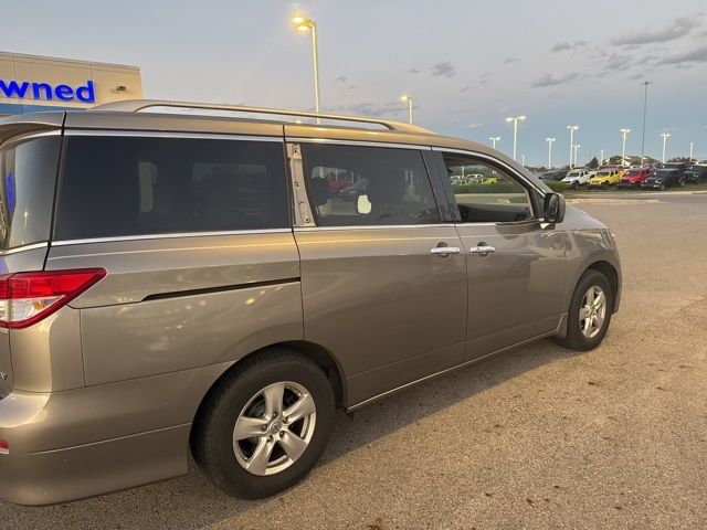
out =
{"type": "Polygon", "coordinates": [[[59,150],[59,136],[0,149],[1,250],[49,240],[59,150]]]}

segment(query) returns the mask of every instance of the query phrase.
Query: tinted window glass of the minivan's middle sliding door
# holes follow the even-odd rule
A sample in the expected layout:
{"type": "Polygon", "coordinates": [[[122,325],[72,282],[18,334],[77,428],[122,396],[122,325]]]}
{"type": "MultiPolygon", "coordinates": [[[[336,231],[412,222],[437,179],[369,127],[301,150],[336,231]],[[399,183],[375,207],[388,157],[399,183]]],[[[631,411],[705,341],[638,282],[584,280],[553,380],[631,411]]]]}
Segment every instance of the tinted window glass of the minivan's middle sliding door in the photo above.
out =
{"type": "Polygon", "coordinates": [[[440,222],[415,149],[303,144],[307,188],[321,226],[440,222]]]}

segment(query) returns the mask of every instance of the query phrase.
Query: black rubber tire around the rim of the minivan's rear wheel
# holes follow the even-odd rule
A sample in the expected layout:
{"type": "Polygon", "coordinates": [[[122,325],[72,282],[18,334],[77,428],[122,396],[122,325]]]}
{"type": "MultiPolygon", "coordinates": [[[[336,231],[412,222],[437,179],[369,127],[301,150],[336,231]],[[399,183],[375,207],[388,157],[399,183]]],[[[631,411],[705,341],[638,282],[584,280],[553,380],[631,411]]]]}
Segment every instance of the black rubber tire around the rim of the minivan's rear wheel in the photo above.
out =
{"type": "Polygon", "coordinates": [[[326,447],[335,417],[334,392],[324,371],[307,358],[284,348],[264,350],[217,383],[202,404],[191,436],[194,460],[224,492],[242,499],[273,496],[302,480],[326,447]],[[306,388],[316,405],[316,422],[305,452],[274,475],[253,475],[233,448],[235,421],[261,390],[277,382],[306,388]]]}

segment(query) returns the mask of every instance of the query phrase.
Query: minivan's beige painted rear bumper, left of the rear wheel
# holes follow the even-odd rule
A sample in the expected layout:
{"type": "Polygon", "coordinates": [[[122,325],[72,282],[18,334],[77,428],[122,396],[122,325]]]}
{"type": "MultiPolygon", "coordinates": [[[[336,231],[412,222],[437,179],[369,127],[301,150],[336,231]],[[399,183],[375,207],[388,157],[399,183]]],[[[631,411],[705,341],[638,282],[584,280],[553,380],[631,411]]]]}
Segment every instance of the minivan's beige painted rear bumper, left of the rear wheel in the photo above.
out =
{"type": "Polygon", "coordinates": [[[197,409],[222,364],[0,400],[0,498],[49,505],[187,473],[197,409]]]}

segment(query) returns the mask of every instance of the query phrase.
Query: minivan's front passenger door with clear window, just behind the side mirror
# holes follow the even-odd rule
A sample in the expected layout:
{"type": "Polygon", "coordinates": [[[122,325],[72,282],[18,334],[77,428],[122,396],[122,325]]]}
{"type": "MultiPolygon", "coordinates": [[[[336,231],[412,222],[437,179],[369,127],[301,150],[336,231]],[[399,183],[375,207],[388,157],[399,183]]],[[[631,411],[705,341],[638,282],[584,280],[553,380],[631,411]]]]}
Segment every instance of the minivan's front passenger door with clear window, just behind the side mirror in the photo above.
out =
{"type": "Polygon", "coordinates": [[[461,214],[469,316],[466,360],[558,328],[567,235],[539,221],[532,186],[487,157],[442,153],[461,214]],[[477,174],[475,180],[455,178],[477,174]]]}

